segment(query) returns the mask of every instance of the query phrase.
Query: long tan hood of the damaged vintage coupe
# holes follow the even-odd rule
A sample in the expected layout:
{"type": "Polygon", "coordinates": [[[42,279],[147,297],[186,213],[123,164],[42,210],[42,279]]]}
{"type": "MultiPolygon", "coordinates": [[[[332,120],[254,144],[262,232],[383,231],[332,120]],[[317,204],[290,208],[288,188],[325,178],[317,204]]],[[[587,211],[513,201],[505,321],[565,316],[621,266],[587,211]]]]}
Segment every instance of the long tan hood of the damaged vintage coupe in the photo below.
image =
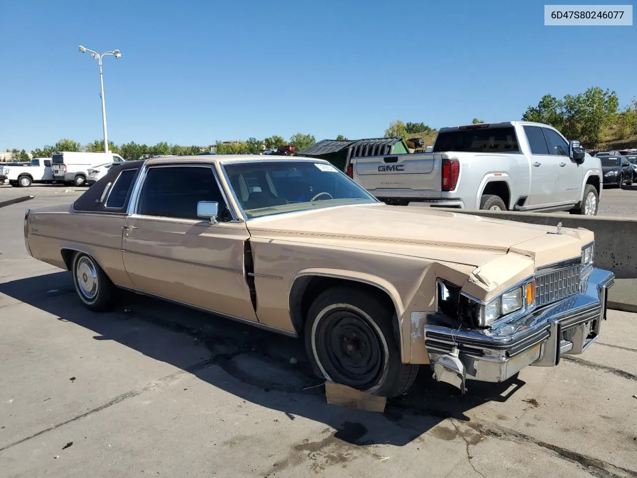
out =
{"type": "Polygon", "coordinates": [[[261,238],[324,243],[480,266],[515,252],[536,266],[581,254],[584,229],[502,221],[419,206],[337,206],[247,221],[261,238]]]}

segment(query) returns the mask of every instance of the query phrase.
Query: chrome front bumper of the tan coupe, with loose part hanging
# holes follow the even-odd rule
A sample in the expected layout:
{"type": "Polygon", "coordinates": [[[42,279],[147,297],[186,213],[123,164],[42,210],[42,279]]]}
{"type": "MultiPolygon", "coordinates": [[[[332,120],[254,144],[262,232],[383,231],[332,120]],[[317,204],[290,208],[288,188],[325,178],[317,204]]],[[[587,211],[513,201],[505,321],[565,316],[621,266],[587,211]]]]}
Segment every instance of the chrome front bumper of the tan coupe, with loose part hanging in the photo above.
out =
{"type": "Polygon", "coordinates": [[[581,354],[606,319],[612,272],[593,269],[580,292],[489,330],[427,324],[425,346],[434,379],[466,391],[465,380],[502,382],[527,365],[555,366],[562,354],[581,354]]]}

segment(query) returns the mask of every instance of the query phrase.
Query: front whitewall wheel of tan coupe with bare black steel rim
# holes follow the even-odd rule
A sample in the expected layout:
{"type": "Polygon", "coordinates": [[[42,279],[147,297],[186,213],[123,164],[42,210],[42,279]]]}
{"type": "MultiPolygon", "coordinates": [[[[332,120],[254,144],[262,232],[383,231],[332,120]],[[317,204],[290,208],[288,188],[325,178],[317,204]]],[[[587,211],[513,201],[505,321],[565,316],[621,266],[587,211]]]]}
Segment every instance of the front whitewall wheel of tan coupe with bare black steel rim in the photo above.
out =
{"type": "Polygon", "coordinates": [[[403,364],[394,311],[375,296],[345,287],[320,294],[305,323],[305,346],[318,377],[380,396],[413,384],[418,365],[403,364]]]}

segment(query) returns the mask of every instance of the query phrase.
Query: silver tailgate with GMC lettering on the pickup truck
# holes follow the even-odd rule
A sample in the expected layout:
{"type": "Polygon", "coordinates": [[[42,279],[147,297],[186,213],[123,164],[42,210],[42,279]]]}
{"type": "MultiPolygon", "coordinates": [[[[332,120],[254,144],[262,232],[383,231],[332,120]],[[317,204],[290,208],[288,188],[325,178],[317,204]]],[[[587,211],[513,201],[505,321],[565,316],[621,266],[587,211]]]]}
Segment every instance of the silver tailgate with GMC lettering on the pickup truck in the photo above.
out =
{"type": "Polygon", "coordinates": [[[353,179],[377,198],[440,198],[440,153],[395,154],[352,159],[353,179]]]}

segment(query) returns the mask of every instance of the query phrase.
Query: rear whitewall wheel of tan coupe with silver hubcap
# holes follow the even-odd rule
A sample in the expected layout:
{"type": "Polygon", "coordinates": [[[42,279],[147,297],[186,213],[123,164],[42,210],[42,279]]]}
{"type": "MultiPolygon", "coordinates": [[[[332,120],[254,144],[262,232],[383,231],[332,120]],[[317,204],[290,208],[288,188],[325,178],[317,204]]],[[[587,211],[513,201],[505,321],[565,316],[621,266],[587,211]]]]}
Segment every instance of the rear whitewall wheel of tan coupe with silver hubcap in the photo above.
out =
{"type": "Polygon", "coordinates": [[[116,289],[97,262],[84,252],[73,257],[73,284],[85,307],[104,312],[113,307],[116,289]]]}

